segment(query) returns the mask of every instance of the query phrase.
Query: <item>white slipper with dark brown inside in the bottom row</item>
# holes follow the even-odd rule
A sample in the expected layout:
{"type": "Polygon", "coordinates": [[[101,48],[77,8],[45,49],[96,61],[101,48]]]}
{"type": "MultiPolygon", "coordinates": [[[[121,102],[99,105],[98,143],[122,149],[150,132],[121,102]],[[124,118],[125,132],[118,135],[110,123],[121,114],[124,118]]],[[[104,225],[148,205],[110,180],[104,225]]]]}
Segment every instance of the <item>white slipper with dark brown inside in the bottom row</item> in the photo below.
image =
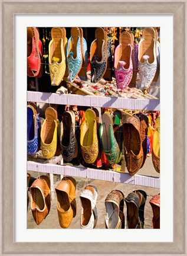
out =
{"type": "Polygon", "coordinates": [[[94,185],[87,185],[80,194],[81,200],[81,229],[94,229],[97,223],[97,188],[94,185]]]}

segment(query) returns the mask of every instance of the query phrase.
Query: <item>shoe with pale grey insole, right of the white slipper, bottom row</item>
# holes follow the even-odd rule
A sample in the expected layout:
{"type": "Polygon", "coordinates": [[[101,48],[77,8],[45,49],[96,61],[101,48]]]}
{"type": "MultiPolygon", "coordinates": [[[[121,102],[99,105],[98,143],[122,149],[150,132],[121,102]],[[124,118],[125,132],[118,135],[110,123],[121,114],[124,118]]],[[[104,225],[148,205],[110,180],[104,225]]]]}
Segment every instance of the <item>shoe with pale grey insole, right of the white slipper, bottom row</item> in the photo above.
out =
{"type": "Polygon", "coordinates": [[[124,195],[112,190],[104,201],[106,207],[105,225],[107,229],[124,229],[124,195]]]}

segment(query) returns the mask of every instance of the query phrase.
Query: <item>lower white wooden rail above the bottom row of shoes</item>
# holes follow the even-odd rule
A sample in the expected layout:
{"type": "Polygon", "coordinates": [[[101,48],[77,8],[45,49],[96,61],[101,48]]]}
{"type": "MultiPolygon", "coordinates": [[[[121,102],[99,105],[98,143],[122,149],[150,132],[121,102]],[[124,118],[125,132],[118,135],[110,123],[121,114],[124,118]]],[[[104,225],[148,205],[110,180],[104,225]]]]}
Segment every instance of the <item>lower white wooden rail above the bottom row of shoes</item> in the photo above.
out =
{"type": "Polygon", "coordinates": [[[71,167],[68,165],[41,164],[27,161],[27,170],[44,172],[50,174],[69,175],[74,177],[88,178],[94,180],[104,180],[116,183],[141,185],[145,187],[160,188],[160,178],[128,173],[108,171],[102,169],[91,169],[84,167],[71,167]]]}

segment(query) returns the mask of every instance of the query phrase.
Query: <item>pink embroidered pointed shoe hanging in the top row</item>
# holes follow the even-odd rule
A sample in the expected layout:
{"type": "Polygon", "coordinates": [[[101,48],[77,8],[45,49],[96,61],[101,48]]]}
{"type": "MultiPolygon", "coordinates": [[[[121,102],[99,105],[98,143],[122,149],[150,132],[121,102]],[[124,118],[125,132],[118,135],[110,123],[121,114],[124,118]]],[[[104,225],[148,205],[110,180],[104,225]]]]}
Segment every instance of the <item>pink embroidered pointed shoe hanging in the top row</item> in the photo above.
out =
{"type": "MultiPolygon", "coordinates": [[[[134,46],[134,35],[129,32],[122,32],[119,38],[119,46],[114,53],[114,72],[117,89],[125,89],[133,78],[132,51],[134,46]]],[[[134,73],[134,76],[136,74],[134,73]]],[[[133,78],[136,82],[136,78],[133,78]]]]}

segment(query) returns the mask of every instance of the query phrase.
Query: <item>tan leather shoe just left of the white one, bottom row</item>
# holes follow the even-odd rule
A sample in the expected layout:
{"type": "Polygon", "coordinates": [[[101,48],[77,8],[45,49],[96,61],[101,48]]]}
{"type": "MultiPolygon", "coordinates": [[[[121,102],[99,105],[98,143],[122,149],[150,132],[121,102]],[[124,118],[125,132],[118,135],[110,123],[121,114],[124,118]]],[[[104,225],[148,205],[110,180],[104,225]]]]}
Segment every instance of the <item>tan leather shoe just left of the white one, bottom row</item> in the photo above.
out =
{"type": "Polygon", "coordinates": [[[55,188],[57,193],[57,212],[61,228],[68,228],[76,216],[76,180],[64,177],[55,188]]]}

